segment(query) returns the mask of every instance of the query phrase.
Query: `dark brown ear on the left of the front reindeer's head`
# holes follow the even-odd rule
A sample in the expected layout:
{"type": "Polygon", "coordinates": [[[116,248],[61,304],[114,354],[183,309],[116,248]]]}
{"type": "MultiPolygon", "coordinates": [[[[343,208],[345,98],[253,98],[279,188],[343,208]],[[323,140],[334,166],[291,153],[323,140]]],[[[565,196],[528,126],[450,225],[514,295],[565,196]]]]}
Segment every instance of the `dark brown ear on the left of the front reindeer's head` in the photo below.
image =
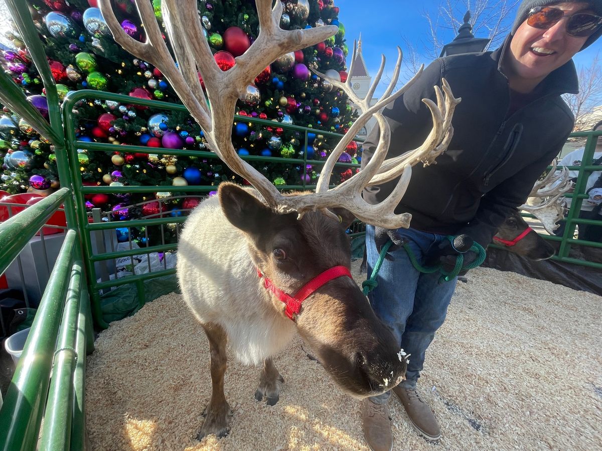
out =
{"type": "Polygon", "coordinates": [[[258,198],[234,183],[222,183],[217,195],[228,221],[243,232],[259,232],[274,214],[258,198]]]}

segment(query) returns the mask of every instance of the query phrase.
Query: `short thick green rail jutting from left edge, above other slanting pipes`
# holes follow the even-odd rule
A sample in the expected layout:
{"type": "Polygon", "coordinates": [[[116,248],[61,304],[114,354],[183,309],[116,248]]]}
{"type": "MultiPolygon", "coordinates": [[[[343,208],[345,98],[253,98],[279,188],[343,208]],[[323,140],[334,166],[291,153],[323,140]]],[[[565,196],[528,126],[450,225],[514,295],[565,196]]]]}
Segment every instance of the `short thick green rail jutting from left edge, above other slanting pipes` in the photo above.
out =
{"type": "Polygon", "coordinates": [[[0,224],[0,274],[57,211],[67,195],[69,189],[61,188],[0,224]]]}

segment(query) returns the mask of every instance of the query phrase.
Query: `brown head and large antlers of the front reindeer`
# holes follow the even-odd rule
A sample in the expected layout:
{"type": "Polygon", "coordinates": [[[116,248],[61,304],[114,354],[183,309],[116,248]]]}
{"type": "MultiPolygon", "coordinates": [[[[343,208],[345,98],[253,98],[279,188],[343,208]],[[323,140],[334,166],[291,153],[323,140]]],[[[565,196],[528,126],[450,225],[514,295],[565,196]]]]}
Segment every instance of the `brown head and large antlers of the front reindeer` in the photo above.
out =
{"type": "MultiPolygon", "coordinates": [[[[264,279],[258,277],[258,283],[269,279],[270,286],[278,289],[274,290],[271,300],[279,312],[287,311],[281,298],[290,298],[325,270],[341,267],[348,271],[349,242],[339,218],[349,221],[355,216],[387,229],[408,227],[411,215],[396,214],[394,209],[408,186],[411,166],[418,162],[432,163],[452,138],[452,114],[459,99],[453,97],[447,82],[443,82],[442,89],[435,87],[436,103],[423,100],[433,118],[432,132],[424,144],[385,161],[391,133],[380,110],[401,96],[420,76],[422,68],[404,88],[393,93],[402,58],[398,48],[399,58],[391,84],[373,106],[370,101],[384,69],[384,57],[364,99],[355,94],[350,79],[345,83],[331,80],[359,105],[362,115],[330,153],[315,193],[284,195],[235,152],[231,141],[235,103],[244,97],[247,86],[268,64],[282,54],[325,40],[338,31],[337,26],[287,31],[279,26],[282,2],[276,1],[272,10],[272,0],[256,0],[259,35],[243,55],[235,58],[235,66],[222,72],[203,36],[199,18],[190,17],[191,11],[196,11],[196,0],[163,0],[162,3],[163,19],[177,66],[161,36],[150,2],[135,0],[135,4],[146,31],[146,43],[135,41],[122,30],[111,10],[110,0],[99,1],[117,43],[161,70],[202,127],[208,147],[261,194],[260,200],[259,195],[232,184],[221,185],[219,189],[223,212],[246,234],[253,263],[264,279]],[[206,97],[199,74],[205,84],[206,97]],[[359,174],[329,189],[335,163],[373,115],[380,126],[380,141],[373,158],[359,174]],[[365,186],[397,178],[396,188],[382,203],[371,205],[362,199],[365,186]]],[[[356,45],[353,61],[356,61],[355,53],[356,45]]],[[[353,72],[353,65],[349,72],[353,72]]],[[[382,393],[402,378],[406,359],[400,352],[399,343],[376,318],[350,277],[337,277],[322,284],[309,295],[294,320],[300,335],[309,342],[327,371],[349,393],[359,397],[382,393]]]]}

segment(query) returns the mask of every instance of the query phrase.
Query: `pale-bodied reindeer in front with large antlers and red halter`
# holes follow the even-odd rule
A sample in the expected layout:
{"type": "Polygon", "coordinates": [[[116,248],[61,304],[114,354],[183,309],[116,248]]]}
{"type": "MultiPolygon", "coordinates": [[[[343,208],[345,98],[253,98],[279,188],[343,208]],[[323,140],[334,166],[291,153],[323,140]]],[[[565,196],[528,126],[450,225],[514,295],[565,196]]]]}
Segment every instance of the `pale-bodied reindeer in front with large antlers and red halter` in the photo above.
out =
{"type": "MultiPolygon", "coordinates": [[[[420,76],[422,68],[406,87],[393,93],[402,58],[398,48],[393,80],[373,106],[370,100],[383,72],[384,57],[365,99],[356,96],[349,79],[344,84],[331,81],[361,105],[363,113],[325,162],[315,193],[284,195],[235,152],[231,142],[235,103],[268,64],[282,54],[325,40],[337,32],[337,26],[287,31],[279,27],[282,2],[276,1],[271,10],[272,0],[256,0],[259,35],[236,58],[235,66],[222,72],[199,18],[190,17],[191,11],[196,11],[196,0],[162,3],[177,66],[161,37],[151,3],[135,3],[146,43],[123,32],[110,0],[99,1],[115,40],[161,70],[202,127],[208,147],[255,187],[220,185],[217,197],[204,201],[191,213],[179,242],[177,271],[182,295],[205,331],[211,351],[213,389],[199,439],[208,434],[222,437],[229,431],[232,411],[223,389],[228,344],[239,360],[263,365],[255,397],[266,398],[268,404],[278,401],[284,382],[272,358],[295,333],[351,396],[361,399],[394,387],[405,375],[408,356],[350,277],[350,248],[344,230],[354,217],[389,229],[408,227],[411,215],[394,213],[394,206],[408,186],[411,165],[430,164],[446,149],[453,134],[453,110],[460,99],[453,97],[447,82],[442,89],[435,87],[437,103],[424,100],[433,117],[429,137],[418,149],[385,160],[390,130],[379,110],[399,97],[420,76]],[[329,189],[335,162],[372,115],[381,130],[373,159],[359,174],[329,189]],[[362,199],[365,186],[397,177],[396,189],[382,203],[370,205],[362,199]]],[[[353,61],[355,53],[356,45],[353,61]]]]}

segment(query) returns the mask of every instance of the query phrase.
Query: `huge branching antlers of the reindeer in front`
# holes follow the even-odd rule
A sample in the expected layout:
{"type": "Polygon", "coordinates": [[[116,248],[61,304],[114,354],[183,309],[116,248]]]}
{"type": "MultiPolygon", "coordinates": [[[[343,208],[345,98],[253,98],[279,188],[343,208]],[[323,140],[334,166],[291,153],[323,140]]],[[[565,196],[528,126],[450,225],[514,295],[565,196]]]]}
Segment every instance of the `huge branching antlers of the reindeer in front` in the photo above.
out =
{"type": "MultiPolygon", "coordinates": [[[[301,217],[305,212],[317,209],[333,215],[327,210],[329,207],[343,206],[355,214],[358,219],[371,224],[388,229],[408,227],[411,215],[408,213],[396,215],[394,207],[397,206],[408,186],[411,165],[418,161],[429,164],[445,150],[452,138],[452,114],[459,99],[453,97],[447,82],[444,82],[442,92],[435,87],[436,105],[432,100],[423,100],[433,117],[433,130],[425,143],[418,149],[385,161],[391,132],[379,110],[402,95],[409,85],[420,76],[422,68],[405,87],[391,94],[397,83],[401,66],[402,54],[398,48],[399,58],[391,84],[373,106],[370,106],[370,100],[384,69],[384,57],[376,80],[364,99],[356,96],[350,79],[347,79],[344,84],[330,80],[335,87],[343,89],[353,102],[360,105],[362,115],[329,155],[318,179],[316,192],[284,196],[272,182],[265,179],[259,171],[237,155],[232,145],[232,118],[235,105],[239,98],[244,97],[247,86],[252,84],[258,73],[261,73],[268,64],[282,54],[326,40],[338,31],[338,27],[328,25],[303,30],[285,30],[279,26],[282,2],[276,1],[272,9],[270,8],[272,0],[256,0],[259,35],[243,55],[235,58],[234,67],[222,72],[211,54],[198,15],[192,20],[190,18],[191,12],[196,11],[196,0],[163,0],[162,2],[163,19],[176,56],[177,66],[163,40],[150,2],[135,0],[135,4],[146,31],[145,43],[134,40],[123,31],[111,9],[110,0],[99,0],[99,7],[117,43],[131,54],[149,61],[161,70],[184,105],[187,106],[190,114],[203,129],[208,147],[214,150],[232,171],[252,183],[273,209],[281,213],[299,212],[299,217],[301,217]],[[203,93],[197,72],[202,76],[207,97],[203,93]],[[207,99],[211,109],[207,106],[207,99]],[[334,189],[328,190],[330,173],[339,156],[372,115],[376,117],[380,126],[380,141],[373,158],[359,174],[334,189]],[[399,176],[401,177],[396,188],[382,203],[370,205],[361,198],[361,192],[365,186],[384,183],[399,176]]],[[[356,45],[354,44],[353,61],[355,61],[355,55],[356,45]]],[[[326,78],[319,72],[317,74],[326,78]]]]}

